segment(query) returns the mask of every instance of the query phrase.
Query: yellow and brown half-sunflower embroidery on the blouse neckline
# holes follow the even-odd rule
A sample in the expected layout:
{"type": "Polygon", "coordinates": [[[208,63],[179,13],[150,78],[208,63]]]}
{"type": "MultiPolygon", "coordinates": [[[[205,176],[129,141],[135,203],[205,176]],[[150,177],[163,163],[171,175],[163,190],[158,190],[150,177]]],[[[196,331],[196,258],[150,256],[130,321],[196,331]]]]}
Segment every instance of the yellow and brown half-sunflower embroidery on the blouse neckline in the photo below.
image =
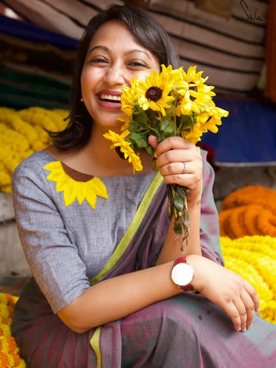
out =
{"type": "Polygon", "coordinates": [[[105,184],[93,175],[80,173],[61,161],[48,163],[44,169],[52,171],[46,179],[57,183],[57,192],[63,191],[66,206],[70,206],[77,198],[80,205],[86,199],[94,209],[97,196],[108,199],[105,184]]]}

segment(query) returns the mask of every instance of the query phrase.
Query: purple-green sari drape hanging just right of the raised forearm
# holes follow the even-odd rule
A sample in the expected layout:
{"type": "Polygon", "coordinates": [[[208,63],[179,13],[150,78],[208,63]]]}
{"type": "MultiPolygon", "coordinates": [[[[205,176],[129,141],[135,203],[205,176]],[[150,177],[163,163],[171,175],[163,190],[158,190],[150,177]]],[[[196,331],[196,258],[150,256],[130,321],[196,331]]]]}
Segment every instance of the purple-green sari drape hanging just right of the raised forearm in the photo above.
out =
{"type": "Polygon", "coordinates": [[[219,244],[219,218],[213,197],[215,173],[207,162],[207,152],[201,151],[203,161],[200,243],[202,255],[224,266],[222,251],[219,244]]]}

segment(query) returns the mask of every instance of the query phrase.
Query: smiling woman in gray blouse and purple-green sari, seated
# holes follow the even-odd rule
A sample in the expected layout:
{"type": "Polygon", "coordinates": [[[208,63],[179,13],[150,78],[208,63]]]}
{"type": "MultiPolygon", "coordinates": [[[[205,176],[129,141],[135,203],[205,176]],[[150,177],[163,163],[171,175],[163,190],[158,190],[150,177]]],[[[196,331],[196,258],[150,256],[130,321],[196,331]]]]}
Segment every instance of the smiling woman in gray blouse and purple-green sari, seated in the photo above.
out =
{"type": "Polygon", "coordinates": [[[275,326],[258,315],[252,324],[256,291],[223,268],[206,153],[180,137],[158,145],[151,136],[161,175],[145,151],[133,176],[103,138],[120,134],[121,87],[160,64],[179,60],[148,13],[112,6],[98,14],[80,43],[68,127],[14,172],[33,278],[12,331],[28,367],[275,367],[275,326]],[[188,292],[170,278],[183,254],[165,183],[191,190],[188,292]]]}

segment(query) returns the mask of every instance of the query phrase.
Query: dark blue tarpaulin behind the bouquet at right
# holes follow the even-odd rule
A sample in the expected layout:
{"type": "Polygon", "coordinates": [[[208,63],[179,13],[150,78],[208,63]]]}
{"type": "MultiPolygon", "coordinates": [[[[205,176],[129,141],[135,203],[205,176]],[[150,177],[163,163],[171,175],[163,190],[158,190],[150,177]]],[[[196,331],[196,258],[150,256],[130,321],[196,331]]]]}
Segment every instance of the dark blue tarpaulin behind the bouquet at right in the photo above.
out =
{"type": "Polygon", "coordinates": [[[218,166],[276,165],[276,105],[253,99],[214,98],[229,111],[216,134],[203,134],[202,143],[215,150],[218,166]]]}

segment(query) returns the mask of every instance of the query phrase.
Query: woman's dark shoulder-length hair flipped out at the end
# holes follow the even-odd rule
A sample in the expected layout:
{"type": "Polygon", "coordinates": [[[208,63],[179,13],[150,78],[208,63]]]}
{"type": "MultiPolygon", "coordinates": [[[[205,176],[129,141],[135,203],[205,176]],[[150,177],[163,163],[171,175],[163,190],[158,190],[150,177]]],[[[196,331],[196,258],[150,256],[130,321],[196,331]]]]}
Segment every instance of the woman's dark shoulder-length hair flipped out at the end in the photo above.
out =
{"type": "Polygon", "coordinates": [[[81,73],[91,39],[95,32],[109,21],[120,21],[127,25],[133,38],[146,49],[151,50],[160,64],[180,67],[180,59],[163,26],[146,10],[128,5],[111,5],[93,17],[80,40],[75,59],[70,95],[70,114],[67,127],[60,132],[48,131],[54,146],[65,152],[84,147],[91,136],[92,118],[81,102],[81,73]]]}

